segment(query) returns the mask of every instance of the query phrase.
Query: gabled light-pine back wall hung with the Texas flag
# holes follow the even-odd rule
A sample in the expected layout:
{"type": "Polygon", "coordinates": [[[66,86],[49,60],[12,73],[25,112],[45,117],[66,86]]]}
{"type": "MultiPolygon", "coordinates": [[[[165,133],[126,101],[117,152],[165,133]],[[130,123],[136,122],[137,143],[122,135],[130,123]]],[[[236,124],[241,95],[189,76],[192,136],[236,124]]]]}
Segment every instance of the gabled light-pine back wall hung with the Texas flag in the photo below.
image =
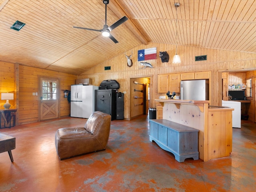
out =
{"type": "MultiPolygon", "coordinates": [[[[256,54],[228,51],[228,50],[217,50],[211,48],[200,48],[194,46],[178,46],[178,54],[180,55],[181,64],[172,64],[172,58],[175,54],[175,45],[173,44],[160,44],[160,43],[149,43],[147,46],[140,45],[131,50],[126,51],[126,55],[132,55],[133,66],[127,66],[127,60],[124,54],[120,54],[115,58],[112,58],[86,72],[81,74],[79,78],[92,78],[93,85],[100,85],[100,82],[107,79],[117,80],[120,84],[118,91],[126,91],[127,98],[130,98],[130,78],[139,78],[145,76],[152,76],[150,79],[150,107],[155,108],[156,102],[154,99],[159,98],[160,95],[157,93],[157,75],[174,73],[174,72],[190,72],[190,71],[202,71],[212,70],[212,94],[213,98],[211,101],[212,105],[218,105],[218,76],[219,71],[224,70],[244,70],[254,69],[256,70],[256,54]],[[146,48],[157,48],[157,54],[160,51],[167,51],[170,60],[168,63],[162,63],[159,56],[156,60],[147,60],[152,64],[153,68],[142,69],[140,62],[138,62],[138,50],[146,48]],[[207,60],[195,61],[195,56],[207,55],[207,60]],[[111,70],[104,70],[105,66],[111,66],[111,70]]],[[[221,77],[220,77],[221,78],[221,77]]],[[[124,118],[130,119],[130,106],[125,106],[124,118]]]]}

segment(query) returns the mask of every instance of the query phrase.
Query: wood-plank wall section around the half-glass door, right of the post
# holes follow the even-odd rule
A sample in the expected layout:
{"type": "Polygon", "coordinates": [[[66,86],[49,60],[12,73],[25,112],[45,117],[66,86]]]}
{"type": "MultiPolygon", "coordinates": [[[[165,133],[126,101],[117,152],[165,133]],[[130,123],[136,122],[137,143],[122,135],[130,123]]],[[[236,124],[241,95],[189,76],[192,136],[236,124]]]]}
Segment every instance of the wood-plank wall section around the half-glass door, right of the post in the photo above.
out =
{"type": "Polygon", "coordinates": [[[76,83],[76,75],[60,73],[51,70],[44,70],[28,66],[19,67],[19,123],[28,123],[38,121],[38,101],[40,96],[33,96],[32,92],[39,92],[38,77],[57,78],[60,83],[59,104],[60,117],[70,114],[70,104],[67,98],[64,98],[64,90],[70,90],[70,85],[76,83]]]}

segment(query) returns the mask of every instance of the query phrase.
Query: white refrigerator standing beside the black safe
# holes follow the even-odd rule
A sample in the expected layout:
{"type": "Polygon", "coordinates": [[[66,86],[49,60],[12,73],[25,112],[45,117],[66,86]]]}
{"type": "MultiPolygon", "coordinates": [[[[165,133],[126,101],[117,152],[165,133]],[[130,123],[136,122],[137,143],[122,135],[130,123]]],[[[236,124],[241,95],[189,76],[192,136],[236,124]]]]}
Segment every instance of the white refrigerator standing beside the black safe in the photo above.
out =
{"type": "Polygon", "coordinates": [[[95,109],[95,90],[98,89],[94,85],[71,85],[70,116],[89,118],[95,109]]]}

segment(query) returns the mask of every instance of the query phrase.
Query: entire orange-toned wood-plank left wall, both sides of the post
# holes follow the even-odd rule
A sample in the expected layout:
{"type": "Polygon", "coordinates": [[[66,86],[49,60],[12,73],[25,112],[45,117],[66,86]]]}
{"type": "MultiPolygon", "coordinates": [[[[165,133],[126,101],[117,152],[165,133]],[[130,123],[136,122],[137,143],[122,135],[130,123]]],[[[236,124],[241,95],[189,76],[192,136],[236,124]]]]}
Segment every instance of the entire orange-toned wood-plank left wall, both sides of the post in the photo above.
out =
{"type": "MultiPolygon", "coordinates": [[[[69,116],[70,104],[64,98],[64,90],[70,90],[70,85],[76,83],[76,75],[44,70],[34,67],[19,65],[18,69],[12,63],[0,62],[0,92],[15,92],[14,100],[10,100],[11,108],[16,108],[16,95],[18,95],[18,123],[25,124],[38,121],[38,105],[40,96],[33,96],[33,92],[39,92],[38,77],[58,78],[60,83],[60,117],[69,116]],[[18,70],[18,80],[15,80],[15,70],[18,70]],[[19,87],[16,92],[15,82],[19,87]]],[[[3,108],[5,101],[1,100],[3,108]]]]}

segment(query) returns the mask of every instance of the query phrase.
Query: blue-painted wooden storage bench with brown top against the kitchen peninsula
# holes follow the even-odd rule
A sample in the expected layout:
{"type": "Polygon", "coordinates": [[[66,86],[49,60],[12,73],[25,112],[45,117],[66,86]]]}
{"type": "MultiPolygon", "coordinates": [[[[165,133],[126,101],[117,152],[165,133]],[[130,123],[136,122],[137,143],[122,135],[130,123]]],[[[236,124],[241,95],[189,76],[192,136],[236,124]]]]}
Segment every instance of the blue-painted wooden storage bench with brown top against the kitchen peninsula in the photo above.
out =
{"type": "Polygon", "coordinates": [[[199,159],[198,130],[164,119],[150,120],[149,140],[174,154],[178,162],[199,159]]]}

